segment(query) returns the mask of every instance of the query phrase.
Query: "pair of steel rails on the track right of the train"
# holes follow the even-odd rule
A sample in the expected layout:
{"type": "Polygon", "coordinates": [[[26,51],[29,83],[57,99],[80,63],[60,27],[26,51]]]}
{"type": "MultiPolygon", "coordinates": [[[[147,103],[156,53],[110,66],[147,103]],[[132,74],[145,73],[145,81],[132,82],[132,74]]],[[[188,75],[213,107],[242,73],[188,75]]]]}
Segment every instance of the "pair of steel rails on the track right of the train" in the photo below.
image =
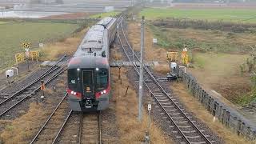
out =
{"type": "MultiPolygon", "coordinates": [[[[119,23],[122,27],[122,21],[119,23]]],[[[119,33],[119,30],[118,30],[118,33],[119,33]]],[[[124,33],[124,30],[123,30],[123,27],[122,27],[122,33],[123,33],[123,36],[124,38],[126,39],[126,43],[128,45],[128,47],[130,48],[130,50],[132,50],[127,38],[126,38],[126,34],[124,33]]],[[[118,37],[119,37],[119,41],[122,43],[121,41],[121,38],[120,38],[120,34],[118,34],[118,37]]],[[[126,53],[126,50],[122,44],[122,49],[125,51],[126,53]]],[[[132,52],[134,53],[134,50],[132,50],[132,52]]],[[[135,57],[138,59],[138,62],[140,62],[137,54],[134,54],[135,57]]],[[[126,57],[130,60],[130,57],[129,55],[126,53],[126,57]]],[[[131,60],[130,60],[131,62],[131,60]]],[[[136,69],[136,72],[138,74],[138,69],[137,69],[137,66],[134,67],[136,69]]],[[[146,70],[146,73],[147,74],[150,74],[150,77],[154,80],[154,83],[157,84],[157,86],[162,90],[162,93],[165,94],[167,96],[167,98],[170,99],[170,101],[174,104],[174,106],[181,112],[181,114],[188,120],[188,122],[190,122],[190,124],[194,127],[195,130],[198,131],[198,133],[202,136],[203,139],[205,139],[205,141],[207,143],[211,143],[210,140],[208,138],[206,138],[206,136],[204,134],[202,134],[201,130],[198,129],[197,126],[194,125],[194,122],[191,122],[190,118],[187,117],[186,114],[184,114],[184,112],[181,110],[181,108],[169,97],[169,95],[166,93],[166,91],[162,88],[162,86],[157,82],[157,80],[154,78],[154,76],[150,73],[150,70],[146,67],[146,66],[143,66],[143,68],[146,70]]],[[[170,118],[170,120],[174,123],[174,126],[178,129],[179,133],[182,134],[182,137],[185,138],[186,142],[188,143],[191,143],[188,138],[186,138],[186,135],[182,133],[182,130],[179,129],[178,125],[174,122],[174,119],[170,117],[170,115],[167,113],[167,111],[164,109],[164,107],[162,106],[162,104],[158,101],[158,99],[155,97],[155,94],[153,94],[153,92],[150,90],[150,87],[144,82],[144,84],[146,85],[146,88],[150,91],[150,94],[152,94],[154,96],[154,99],[158,102],[158,104],[162,107],[162,110],[164,110],[166,112],[166,114],[168,115],[168,117],[170,118]]]]}

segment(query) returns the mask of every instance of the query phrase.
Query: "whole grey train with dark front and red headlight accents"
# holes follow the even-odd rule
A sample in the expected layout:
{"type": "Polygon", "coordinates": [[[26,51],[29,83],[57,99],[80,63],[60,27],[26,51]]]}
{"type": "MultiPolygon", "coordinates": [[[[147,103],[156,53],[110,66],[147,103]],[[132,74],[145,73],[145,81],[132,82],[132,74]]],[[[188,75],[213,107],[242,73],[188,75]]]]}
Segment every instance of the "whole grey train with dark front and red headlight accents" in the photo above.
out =
{"type": "Polygon", "coordinates": [[[71,110],[87,112],[109,106],[109,48],[116,23],[116,18],[103,18],[92,26],[71,58],[67,89],[71,110]]]}

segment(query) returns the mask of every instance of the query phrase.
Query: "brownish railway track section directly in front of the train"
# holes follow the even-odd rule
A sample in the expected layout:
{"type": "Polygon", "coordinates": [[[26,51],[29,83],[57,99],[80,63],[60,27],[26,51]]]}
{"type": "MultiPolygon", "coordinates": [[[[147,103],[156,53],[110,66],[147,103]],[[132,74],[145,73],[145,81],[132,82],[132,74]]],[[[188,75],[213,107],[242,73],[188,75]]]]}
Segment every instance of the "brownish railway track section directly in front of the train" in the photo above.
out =
{"type": "Polygon", "coordinates": [[[63,122],[52,143],[101,144],[102,120],[100,112],[97,114],[71,113],[63,122]]]}

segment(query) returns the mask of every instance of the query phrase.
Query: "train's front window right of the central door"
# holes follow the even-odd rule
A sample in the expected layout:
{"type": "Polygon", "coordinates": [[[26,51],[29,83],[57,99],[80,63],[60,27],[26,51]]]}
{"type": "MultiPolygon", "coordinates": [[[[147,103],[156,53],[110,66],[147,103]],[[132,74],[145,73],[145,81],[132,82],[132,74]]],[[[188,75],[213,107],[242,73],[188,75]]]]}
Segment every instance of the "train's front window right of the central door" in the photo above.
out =
{"type": "Polygon", "coordinates": [[[99,69],[96,71],[96,88],[97,91],[106,90],[108,86],[108,72],[106,69],[99,69]]]}

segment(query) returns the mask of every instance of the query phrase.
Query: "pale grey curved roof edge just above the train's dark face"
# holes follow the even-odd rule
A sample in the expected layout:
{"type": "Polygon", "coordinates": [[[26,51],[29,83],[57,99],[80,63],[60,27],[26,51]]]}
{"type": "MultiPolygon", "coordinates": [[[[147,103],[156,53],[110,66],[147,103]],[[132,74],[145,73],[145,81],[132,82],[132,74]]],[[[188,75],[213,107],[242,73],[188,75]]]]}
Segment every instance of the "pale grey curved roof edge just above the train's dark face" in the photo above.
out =
{"type": "Polygon", "coordinates": [[[68,69],[76,68],[108,68],[107,58],[101,56],[74,57],[70,59],[68,69]]]}

